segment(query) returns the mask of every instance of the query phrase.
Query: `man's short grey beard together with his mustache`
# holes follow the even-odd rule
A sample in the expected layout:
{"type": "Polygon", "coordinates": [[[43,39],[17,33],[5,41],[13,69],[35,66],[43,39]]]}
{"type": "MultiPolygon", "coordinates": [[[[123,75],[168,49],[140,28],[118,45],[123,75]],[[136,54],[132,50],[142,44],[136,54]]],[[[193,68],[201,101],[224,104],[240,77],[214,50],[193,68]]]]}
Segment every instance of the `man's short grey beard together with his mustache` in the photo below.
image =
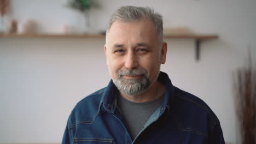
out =
{"type": "Polygon", "coordinates": [[[119,70],[117,80],[113,81],[119,91],[127,95],[138,95],[146,91],[152,82],[148,79],[147,71],[144,69],[119,70]],[[140,75],[138,79],[125,79],[124,75],[140,75]]]}

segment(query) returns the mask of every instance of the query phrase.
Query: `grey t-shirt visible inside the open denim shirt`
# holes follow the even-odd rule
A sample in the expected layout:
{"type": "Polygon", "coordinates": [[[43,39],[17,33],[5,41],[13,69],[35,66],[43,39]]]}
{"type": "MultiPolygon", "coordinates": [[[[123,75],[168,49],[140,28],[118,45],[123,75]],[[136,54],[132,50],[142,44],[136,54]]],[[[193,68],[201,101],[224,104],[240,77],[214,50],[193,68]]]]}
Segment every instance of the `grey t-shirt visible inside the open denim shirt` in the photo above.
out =
{"type": "Polygon", "coordinates": [[[146,103],[134,103],[125,99],[121,94],[118,94],[117,105],[123,114],[127,130],[129,131],[132,140],[134,140],[138,135],[143,125],[148,121],[148,118],[161,105],[163,98],[164,94],[153,101],[146,103]]]}

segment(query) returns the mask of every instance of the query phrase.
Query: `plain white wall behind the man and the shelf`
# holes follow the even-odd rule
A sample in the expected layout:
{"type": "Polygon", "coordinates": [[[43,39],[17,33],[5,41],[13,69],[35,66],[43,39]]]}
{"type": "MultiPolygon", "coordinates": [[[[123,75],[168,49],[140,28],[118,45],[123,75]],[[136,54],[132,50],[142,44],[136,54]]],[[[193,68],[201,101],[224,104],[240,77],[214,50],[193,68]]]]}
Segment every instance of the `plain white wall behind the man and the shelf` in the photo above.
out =
{"type": "MultiPolygon", "coordinates": [[[[218,116],[226,141],[236,143],[232,71],[244,63],[247,47],[256,56],[256,1],[98,1],[91,22],[106,28],[121,5],[148,5],[164,17],[165,27],[187,26],[198,33],[217,33],[202,43],[195,61],[193,40],[167,40],[162,71],[175,86],[197,95],[218,116]]],[[[57,33],[68,24],[82,27],[65,0],[13,0],[9,17],[37,21],[37,31],[57,33]]],[[[0,143],[61,142],[67,118],[86,95],[110,79],[104,39],[0,38],[0,143]]]]}

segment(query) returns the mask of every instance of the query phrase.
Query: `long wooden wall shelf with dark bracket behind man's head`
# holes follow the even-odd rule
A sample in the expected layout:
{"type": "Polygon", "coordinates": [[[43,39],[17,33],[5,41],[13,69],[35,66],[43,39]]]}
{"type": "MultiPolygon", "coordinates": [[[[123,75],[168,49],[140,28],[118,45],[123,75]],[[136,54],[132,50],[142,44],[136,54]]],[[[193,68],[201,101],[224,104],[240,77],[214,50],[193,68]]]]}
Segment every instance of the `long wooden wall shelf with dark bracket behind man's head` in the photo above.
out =
{"type": "MultiPolygon", "coordinates": [[[[0,38],[105,38],[105,34],[0,34],[0,38]]],[[[181,34],[165,35],[165,39],[193,39],[195,40],[196,61],[200,59],[200,46],[203,40],[218,39],[216,34],[181,34]]]]}

